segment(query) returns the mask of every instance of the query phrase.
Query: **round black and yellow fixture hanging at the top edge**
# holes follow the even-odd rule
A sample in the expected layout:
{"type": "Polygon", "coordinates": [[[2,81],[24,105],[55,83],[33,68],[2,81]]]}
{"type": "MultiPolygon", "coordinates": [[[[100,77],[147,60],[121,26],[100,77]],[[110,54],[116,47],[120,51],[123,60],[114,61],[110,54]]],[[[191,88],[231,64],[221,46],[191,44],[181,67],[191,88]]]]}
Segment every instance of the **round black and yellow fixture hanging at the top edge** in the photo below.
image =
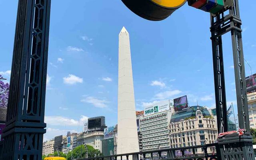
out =
{"type": "Polygon", "coordinates": [[[187,0],[122,0],[138,16],[153,21],[164,20],[187,0]]]}

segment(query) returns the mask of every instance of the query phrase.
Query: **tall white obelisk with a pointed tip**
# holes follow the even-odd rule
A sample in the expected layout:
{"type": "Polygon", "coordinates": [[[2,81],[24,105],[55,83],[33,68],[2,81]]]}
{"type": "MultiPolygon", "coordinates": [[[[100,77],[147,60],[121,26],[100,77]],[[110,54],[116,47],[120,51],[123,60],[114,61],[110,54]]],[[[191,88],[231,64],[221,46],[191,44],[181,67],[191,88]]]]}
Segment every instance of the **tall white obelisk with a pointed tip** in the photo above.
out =
{"type": "Polygon", "coordinates": [[[130,40],[124,27],[119,34],[117,132],[117,154],[139,152],[130,40]]]}

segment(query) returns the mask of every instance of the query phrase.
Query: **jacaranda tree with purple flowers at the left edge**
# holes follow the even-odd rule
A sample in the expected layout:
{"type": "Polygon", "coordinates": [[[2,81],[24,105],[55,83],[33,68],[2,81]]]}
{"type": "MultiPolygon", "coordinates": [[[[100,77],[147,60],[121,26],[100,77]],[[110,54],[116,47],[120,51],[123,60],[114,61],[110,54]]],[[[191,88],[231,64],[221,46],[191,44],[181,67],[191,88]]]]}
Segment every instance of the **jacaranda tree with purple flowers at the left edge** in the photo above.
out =
{"type": "MultiPolygon", "coordinates": [[[[0,78],[3,78],[0,74],[0,78]]],[[[0,80],[0,108],[7,108],[9,84],[0,80]]]]}

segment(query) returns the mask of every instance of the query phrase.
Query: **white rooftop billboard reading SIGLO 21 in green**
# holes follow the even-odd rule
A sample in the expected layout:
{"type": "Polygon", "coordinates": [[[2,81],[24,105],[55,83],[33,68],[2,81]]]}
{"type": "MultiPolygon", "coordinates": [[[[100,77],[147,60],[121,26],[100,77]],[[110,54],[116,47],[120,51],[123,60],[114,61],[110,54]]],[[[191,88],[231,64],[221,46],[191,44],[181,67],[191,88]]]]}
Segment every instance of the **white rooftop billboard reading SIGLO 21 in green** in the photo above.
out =
{"type": "Polygon", "coordinates": [[[169,100],[165,100],[165,101],[162,101],[162,102],[158,102],[156,104],[152,104],[150,106],[146,106],[144,108],[144,116],[149,116],[151,114],[164,112],[166,110],[170,110],[169,100]]]}

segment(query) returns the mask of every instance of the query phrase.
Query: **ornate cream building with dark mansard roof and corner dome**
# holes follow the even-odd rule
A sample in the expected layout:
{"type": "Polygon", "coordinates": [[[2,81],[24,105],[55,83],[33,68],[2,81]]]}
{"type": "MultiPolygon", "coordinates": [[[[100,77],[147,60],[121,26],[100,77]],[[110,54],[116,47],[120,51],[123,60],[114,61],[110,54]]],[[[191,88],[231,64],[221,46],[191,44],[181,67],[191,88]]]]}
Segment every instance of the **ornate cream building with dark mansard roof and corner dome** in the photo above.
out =
{"type": "MultiPolygon", "coordinates": [[[[203,106],[191,106],[186,110],[174,112],[169,130],[171,148],[215,143],[218,136],[216,120],[203,106]]],[[[208,153],[214,150],[214,147],[210,147],[208,153]]],[[[192,152],[192,149],[187,151],[192,152]]],[[[196,148],[195,152],[201,154],[204,150],[196,148]]]]}

